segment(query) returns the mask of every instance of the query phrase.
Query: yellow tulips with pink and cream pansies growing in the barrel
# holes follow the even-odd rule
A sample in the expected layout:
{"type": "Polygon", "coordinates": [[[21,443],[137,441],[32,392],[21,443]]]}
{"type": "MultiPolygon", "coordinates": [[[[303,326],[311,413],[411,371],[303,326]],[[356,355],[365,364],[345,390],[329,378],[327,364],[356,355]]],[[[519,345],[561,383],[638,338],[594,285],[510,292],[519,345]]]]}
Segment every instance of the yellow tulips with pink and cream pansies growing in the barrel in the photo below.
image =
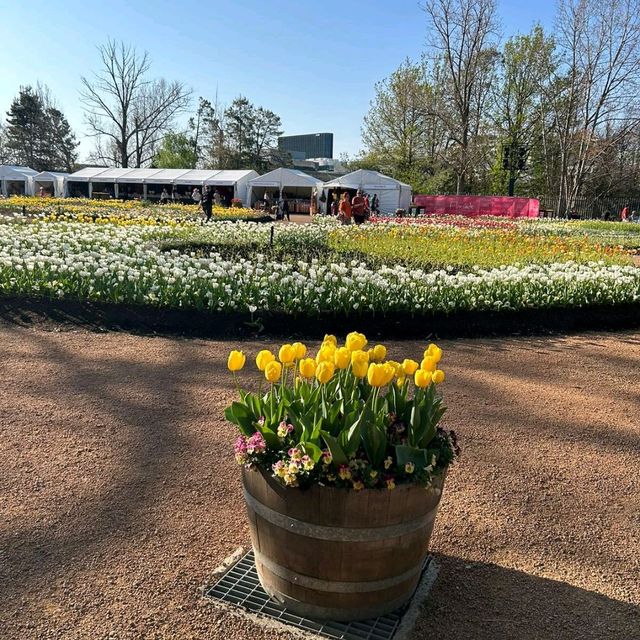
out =
{"type": "Polygon", "coordinates": [[[240,397],[225,417],[240,431],[236,461],[286,487],[435,490],[459,453],[455,433],[439,426],[446,410],[437,390],[445,380],[442,355],[432,343],[420,361],[397,362],[361,333],[351,332],[343,345],[326,335],[315,357],[300,342],[277,354],[259,351],[255,363],[268,387],[248,393],[239,384],[247,356],[231,351],[240,397]]]}

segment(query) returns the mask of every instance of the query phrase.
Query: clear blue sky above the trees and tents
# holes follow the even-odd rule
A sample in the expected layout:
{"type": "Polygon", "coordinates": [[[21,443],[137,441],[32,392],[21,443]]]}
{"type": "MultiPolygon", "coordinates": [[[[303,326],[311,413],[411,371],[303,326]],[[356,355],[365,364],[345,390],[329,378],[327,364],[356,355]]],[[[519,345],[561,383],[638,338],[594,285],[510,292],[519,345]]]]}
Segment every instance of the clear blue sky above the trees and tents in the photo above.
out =
{"type": "MultiPolygon", "coordinates": [[[[361,148],[373,85],[426,41],[418,0],[32,0],[3,3],[0,112],[20,85],[49,85],[82,141],[80,75],[98,68],[108,37],[149,52],[152,74],[230,103],[239,94],[282,118],[286,134],[331,131],[334,156],[361,148]]],[[[551,27],[553,0],[498,0],[505,36],[539,21],[551,27]]],[[[195,103],[195,100],[194,100],[195,103]]]]}

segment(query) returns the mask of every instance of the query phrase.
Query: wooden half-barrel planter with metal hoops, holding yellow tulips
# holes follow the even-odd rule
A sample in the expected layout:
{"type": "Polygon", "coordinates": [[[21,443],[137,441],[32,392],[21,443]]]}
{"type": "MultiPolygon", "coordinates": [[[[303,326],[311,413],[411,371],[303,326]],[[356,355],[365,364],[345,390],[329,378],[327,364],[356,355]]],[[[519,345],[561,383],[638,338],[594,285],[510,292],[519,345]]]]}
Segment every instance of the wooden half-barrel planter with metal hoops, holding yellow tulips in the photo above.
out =
{"type": "Polygon", "coordinates": [[[286,488],[243,469],[256,568],[298,615],[364,620],[407,602],[420,580],[444,476],[431,490],[286,488]]]}

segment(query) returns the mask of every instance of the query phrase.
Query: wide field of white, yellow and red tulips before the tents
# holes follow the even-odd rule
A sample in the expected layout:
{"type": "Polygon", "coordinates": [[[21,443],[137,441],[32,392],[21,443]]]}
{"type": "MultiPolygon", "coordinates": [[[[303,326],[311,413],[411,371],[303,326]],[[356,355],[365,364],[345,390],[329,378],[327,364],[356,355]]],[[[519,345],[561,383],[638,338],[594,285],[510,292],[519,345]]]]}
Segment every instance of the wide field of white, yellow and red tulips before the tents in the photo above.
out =
{"type": "Polygon", "coordinates": [[[631,255],[640,225],[451,218],[345,227],[323,218],[203,226],[193,211],[158,218],[128,205],[75,206],[0,218],[0,295],[298,317],[640,302],[631,255]],[[96,216],[98,207],[108,215],[96,216]]]}

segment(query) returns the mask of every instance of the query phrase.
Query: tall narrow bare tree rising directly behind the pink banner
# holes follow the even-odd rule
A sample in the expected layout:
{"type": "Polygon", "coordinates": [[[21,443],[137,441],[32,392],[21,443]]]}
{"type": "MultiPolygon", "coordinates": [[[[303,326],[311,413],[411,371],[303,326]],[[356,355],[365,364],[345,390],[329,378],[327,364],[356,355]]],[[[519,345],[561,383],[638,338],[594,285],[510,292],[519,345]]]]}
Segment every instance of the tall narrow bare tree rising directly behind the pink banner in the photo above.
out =
{"type": "Polygon", "coordinates": [[[444,60],[449,110],[441,115],[456,147],[453,162],[460,194],[473,164],[474,120],[478,122],[482,114],[478,99],[486,97],[481,88],[488,84],[495,64],[491,53],[497,32],[495,0],[427,0],[423,8],[434,57],[444,60]]]}

